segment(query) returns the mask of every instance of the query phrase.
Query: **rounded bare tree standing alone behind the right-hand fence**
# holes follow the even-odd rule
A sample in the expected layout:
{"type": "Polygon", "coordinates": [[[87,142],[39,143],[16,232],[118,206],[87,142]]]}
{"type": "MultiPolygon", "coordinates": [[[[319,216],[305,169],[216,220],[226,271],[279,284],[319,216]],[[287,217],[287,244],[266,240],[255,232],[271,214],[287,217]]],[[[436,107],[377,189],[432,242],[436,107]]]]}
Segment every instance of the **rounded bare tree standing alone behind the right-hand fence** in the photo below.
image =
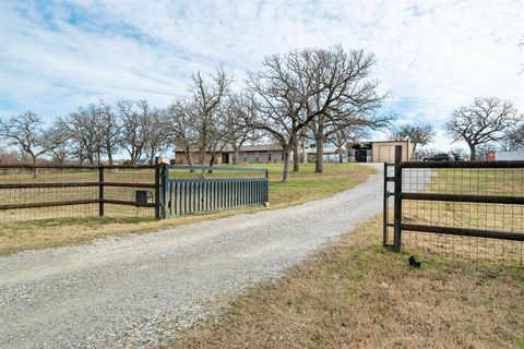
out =
{"type": "Polygon", "coordinates": [[[471,158],[475,160],[478,145],[500,141],[520,120],[522,116],[511,101],[496,97],[476,98],[472,106],[453,112],[446,131],[454,142],[467,143],[471,158]]]}

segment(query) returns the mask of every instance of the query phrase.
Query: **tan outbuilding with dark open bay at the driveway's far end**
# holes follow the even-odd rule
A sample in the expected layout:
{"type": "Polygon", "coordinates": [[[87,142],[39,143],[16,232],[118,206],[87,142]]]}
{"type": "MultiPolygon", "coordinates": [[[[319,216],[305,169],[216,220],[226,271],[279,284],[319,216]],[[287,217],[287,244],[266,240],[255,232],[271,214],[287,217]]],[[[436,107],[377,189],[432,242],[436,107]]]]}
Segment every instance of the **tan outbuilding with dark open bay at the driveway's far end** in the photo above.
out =
{"type": "Polygon", "coordinates": [[[402,160],[412,159],[413,144],[409,141],[372,141],[349,145],[350,163],[394,163],[395,146],[402,146],[402,160]]]}

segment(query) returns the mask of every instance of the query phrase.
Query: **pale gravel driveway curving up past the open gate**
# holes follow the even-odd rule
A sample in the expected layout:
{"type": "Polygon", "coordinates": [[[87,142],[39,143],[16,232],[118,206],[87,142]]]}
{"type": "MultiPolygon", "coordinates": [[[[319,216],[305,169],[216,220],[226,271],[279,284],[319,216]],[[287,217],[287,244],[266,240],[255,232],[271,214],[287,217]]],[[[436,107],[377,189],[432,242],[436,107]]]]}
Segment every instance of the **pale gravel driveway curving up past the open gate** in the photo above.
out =
{"type": "Polygon", "coordinates": [[[382,176],[303,205],[0,258],[1,348],[155,348],[205,303],[380,213],[382,176]]]}

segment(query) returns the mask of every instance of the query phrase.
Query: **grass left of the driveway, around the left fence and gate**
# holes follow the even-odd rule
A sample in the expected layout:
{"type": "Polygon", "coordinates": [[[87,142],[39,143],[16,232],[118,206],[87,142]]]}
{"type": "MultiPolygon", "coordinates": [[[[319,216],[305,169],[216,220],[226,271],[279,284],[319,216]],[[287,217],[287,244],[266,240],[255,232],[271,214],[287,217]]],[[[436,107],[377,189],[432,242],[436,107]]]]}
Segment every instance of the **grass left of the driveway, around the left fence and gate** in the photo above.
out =
{"type": "MultiPolygon", "coordinates": [[[[281,182],[282,165],[270,164],[259,165],[258,167],[264,167],[270,169],[270,209],[285,207],[289,205],[297,205],[310,200],[325,197],[336,192],[349,189],[356,184],[366,180],[366,178],[374,173],[376,170],[371,167],[352,165],[352,164],[326,164],[325,172],[323,174],[314,173],[314,166],[312,164],[305,164],[301,166],[299,173],[293,173],[291,179],[286,182],[281,182]]],[[[187,178],[190,176],[196,176],[198,173],[189,173],[187,171],[172,171],[172,176],[179,178],[187,178]]],[[[238,173],[236,173],[238,174],[238,173]]],[[[49,181],[51,173],[40,173],[37,181],[49,181]]],[[[55,176],[55,174],[53,174],[55,176]]],[[[94,172],[64,172],[59,179],[61,181],[92,181],[97,173],[94,172]]],[[[235,176],[231,172],[215,171],[212,177],[227,177],[235,176]]],[[[258,174],[260,176],[260,174],[258,174]]],[[[97,177],[96,177],[97,178],[97,177]]],[[[121,171],[119,173],[107,173],[106,181],[139,181],[139,182],[152,182],[152,170],[141,171],[121,171]]],[[[24,182],[32,179],[32,173],[0,176],[0,182],[24,182]]],[[[52,178],[57,180],[56,176],[52,178]]],[[[97,195],[97,189],[88,189],[93,192],[79,191],[74,195],[68,197],[91,197],[88,195],[97,195]]],[[[112,189],[115,190],[115,189],[112,189]]],[[[20,193],[0,193],[3,196],[3,201],[9,200],[9,195],[19,195],[20,193]]],[[[41,200],[52,200],[52,197],[45,195],[59,195],[57,192],[45,192],[43,190],[23,195],[31,196],[27,200],[35,202],[41,200]],[[38,195],[41,195],[38,197],[38,195]]],[[[114,192],[110,195],[122,197],[122,193],[114,192]]],[[[130,197],[123,197],[126,200],[132,200],[132,192],[126,192],[124,195],[130,197]]],[[[61,196],[60,196],[61,197],[61,196]]],[[[29,249],[43,249],[50,246],[60,246],[66,244],[74,244],[87,242],[96,238],[105,236],[122,236],[127,233],[143,233],[147,231],[169,228],[182,224],[194,222],[203,219],[216,219],[221,217],[231,216],[239,213],[252,213],[260,209],[267,209],[264,207],[247,207],[240,209],[233,209],[219,213],[213,213],[200,216],[186,216],[179,218],[171,218],[162,221],[155,221],[153,218],[153,210],[139,212],[134,207],[112,206],[106,205],[106,212],[109,215],[114,214],[115,217],[90,217],[97,214],[97,205],[70,206],[67,210],[62,212],[56,208],[56,210],[47,210],[45,213],[27,213],[27,218],[38,217],[37,215],[51,215],[55,213],[57,217],[60,214],[78,215],[78,217],[61,217],[52,219],[29,219],[24,221],[5,222],[4,219],[0,224],[0,254],[11,254],[23,250],[29,249]],[[116,209],[129,209],[127,212],[116,209]]],[[[20,210],[19,210],[20,212],[20,210]]],[[[2,221],[0,217],[0,221],[2,221]]]]}

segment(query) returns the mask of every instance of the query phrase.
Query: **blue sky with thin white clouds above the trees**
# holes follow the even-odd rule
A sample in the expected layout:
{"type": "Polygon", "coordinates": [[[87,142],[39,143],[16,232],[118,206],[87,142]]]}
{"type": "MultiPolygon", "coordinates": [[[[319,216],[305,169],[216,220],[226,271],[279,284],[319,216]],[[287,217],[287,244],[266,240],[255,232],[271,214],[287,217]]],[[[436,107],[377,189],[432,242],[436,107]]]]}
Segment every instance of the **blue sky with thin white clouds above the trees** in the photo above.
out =
{"type": "Polygon", "coordinates": [[[165,107],[196,71],[223,64],[240,88],[264,56],[342,45],[376,56],[382,112],[441,129],[479,96],[524,110],[523,39],[524,0],[0,0],[0,118],[165,107]]]}

